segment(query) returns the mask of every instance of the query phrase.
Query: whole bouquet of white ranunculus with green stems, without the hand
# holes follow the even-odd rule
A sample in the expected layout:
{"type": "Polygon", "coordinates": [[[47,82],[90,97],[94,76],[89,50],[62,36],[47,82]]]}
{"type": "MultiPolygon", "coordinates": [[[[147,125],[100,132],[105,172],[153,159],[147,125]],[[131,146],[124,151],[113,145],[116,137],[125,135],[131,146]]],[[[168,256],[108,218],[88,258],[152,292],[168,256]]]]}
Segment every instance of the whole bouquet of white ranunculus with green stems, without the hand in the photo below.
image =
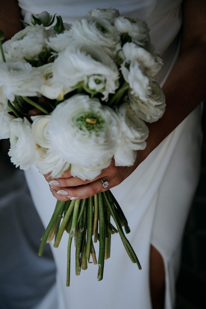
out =
{"type": "MultiPolygon", "coordinates": [[[[70,169],[82,180],[97,177],[112,158],[116,166],[132,166],[137,150],[146,146],[145,122],[157,121],[165,110],[154,78],[162,60],[150,43],[147,24],[112,8],[89,11],[72,24],[57,16],[48,28],[54,18],[45,11],[32,14],[32,25],[0,44],[0,138],[10,138],[11,162],[23,170],[34,164],[51,178],[70,169]]],[[[103,182],[104,188],[108,185],[103,182]]],[[[97,264],[93,241],[99,240],[101,280],[111,235],[119,232],[141,269],[122,226],[130,231],[109,190],[88,199],[57,201],[39,255],[46,242],[54,237],[58,247],[63,232],[69,233],[69,286],[72,239],[77,275],[87,268],[90,255],[97,264]]]]}

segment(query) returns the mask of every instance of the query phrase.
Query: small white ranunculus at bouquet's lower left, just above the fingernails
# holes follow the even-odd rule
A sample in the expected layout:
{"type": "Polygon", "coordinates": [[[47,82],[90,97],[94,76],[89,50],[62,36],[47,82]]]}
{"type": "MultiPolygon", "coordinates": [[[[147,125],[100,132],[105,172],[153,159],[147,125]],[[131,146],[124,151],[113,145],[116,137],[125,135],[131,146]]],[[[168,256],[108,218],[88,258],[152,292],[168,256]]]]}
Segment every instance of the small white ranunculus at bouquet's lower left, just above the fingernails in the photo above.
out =
{"type": "Polygon", "coordinates": [[[51,173],[51,177],[59,178],[70,167],[70,164],[51,148],[38,147],[38,153],[35,166],[42,175],[51,173]]]}

